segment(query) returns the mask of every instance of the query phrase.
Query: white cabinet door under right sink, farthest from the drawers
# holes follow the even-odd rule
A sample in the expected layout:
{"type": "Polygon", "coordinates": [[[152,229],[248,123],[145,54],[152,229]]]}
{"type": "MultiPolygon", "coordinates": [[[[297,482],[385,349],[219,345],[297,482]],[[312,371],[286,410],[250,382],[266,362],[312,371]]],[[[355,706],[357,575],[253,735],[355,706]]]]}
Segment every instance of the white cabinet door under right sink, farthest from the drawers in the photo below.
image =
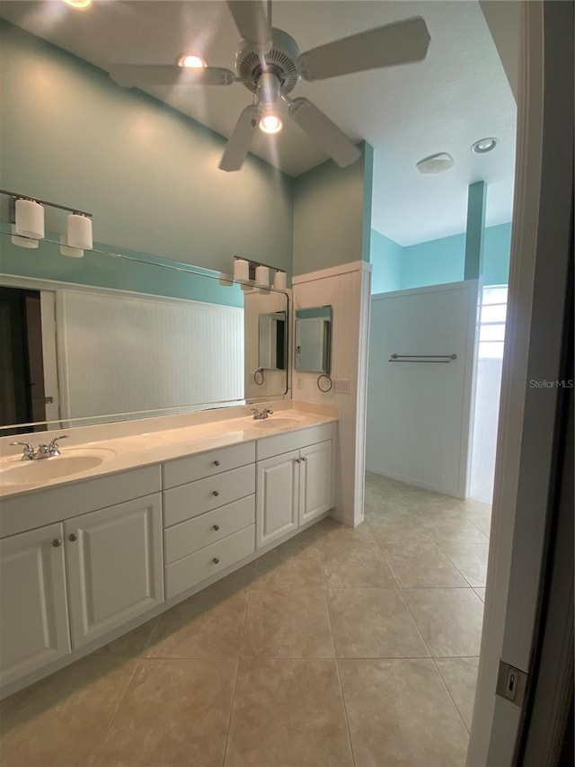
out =
{"type": "Polygon", "coordinates": [[[299,524],[332,508],[332,440],[300,451],[299,524]]]}

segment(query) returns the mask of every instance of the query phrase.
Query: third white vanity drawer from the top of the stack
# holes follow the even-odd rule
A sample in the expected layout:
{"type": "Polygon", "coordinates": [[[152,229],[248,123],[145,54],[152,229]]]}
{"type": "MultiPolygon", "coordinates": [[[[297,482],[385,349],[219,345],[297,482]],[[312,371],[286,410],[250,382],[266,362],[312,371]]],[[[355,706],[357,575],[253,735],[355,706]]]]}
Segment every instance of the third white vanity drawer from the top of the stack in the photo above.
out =
{"type": "Polygon", "coordinates": [[[213,512],[173,525],[164,534],[166,565],[187,557],[199,548],[217,543],[255,522],[255,495],[248,495],[213,512]]]}

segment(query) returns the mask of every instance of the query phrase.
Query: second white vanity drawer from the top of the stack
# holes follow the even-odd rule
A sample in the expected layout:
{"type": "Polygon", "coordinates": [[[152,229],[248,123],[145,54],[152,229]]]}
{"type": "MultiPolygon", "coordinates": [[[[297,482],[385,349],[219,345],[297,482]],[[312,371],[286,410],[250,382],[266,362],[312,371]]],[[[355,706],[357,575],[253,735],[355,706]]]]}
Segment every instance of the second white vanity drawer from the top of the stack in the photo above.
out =
{"type": "Polygon", "coordinates": [[[164,492],[164,526],[211,512],[255,492],[255,464],[198,479],[164,492]]]}

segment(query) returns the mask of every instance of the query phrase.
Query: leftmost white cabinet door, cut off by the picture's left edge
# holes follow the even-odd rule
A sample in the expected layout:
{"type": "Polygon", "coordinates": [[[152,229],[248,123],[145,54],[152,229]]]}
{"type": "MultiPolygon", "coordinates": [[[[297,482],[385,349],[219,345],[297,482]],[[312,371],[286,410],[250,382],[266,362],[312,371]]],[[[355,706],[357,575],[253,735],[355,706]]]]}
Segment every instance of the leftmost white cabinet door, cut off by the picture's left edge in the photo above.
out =
{"type": "Polygon", "coordinates": [[[0,682],[70,652],[60,523],[0,540],[0,682]]]}

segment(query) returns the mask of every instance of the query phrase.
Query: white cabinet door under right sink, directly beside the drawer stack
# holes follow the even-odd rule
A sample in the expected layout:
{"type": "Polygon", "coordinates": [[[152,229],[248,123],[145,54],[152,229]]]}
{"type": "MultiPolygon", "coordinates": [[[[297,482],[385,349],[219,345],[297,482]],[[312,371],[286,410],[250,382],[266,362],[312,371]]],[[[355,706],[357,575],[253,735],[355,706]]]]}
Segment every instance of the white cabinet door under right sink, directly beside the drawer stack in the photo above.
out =
{"type": "Polygon", "coordinates": [[[299,450],[258,463],[256,548],[297,528],[299,450]]]}

